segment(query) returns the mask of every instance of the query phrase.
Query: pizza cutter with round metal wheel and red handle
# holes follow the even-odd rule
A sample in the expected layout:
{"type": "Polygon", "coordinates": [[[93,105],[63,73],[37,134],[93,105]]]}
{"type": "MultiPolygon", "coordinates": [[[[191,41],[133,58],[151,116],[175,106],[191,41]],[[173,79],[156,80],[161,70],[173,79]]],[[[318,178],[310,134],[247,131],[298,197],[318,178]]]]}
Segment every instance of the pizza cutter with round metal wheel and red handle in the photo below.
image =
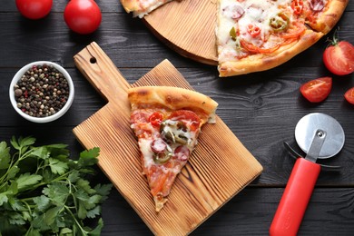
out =
{"type": "Polygon", "coordinates": [[[336,155],[344,145],[341,125],[324,113],[310,113],[295,127],[295,139],[305,158],[298,158],[270,225],[270,235],[296,235],[321,166],[317,159],[336,155]]]}

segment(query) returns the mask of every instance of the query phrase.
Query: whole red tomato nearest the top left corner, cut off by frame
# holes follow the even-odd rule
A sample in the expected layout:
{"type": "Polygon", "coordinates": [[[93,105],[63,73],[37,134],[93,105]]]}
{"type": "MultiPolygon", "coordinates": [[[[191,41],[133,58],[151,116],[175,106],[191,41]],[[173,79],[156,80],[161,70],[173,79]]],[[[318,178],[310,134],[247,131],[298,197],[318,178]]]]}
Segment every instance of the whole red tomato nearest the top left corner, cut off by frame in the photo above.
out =
{"type": "Polygon", "coordinates": [[[18,11],[29,19],[40,19],[48,15],[52,9],[53,0],[16,0],[18,11]]]}

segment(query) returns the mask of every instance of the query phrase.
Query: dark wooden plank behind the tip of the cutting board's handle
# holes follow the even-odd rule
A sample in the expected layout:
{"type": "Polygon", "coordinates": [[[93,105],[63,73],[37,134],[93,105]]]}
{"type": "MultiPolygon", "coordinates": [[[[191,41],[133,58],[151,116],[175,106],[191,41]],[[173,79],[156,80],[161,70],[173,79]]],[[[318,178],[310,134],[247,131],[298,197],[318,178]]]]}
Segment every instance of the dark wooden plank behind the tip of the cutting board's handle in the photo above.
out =
{"type": "MultiPolygon", "coordinates": [[[[339,21],[340,39],[349,40],[354,37],[354,25],[351,20],[354,12],[346,12],[339,21]]],[[[118,68],[149,67],[169,59],[176,67],[192,67],[196,63],[185,59],[163,45],[143,25],[142,21],[125,13],[103,15],[103,23],[93,34],[78,35],[72,33],[64,23],[63,14],[54,13],[39,21],[30,21],[15,13],[0,15],[3,45],[3,59],[0,66],[22,66],[34,60],[50,60],[65,66],[74,67],[73,54],[78,53],[86,44],[95,41],[118,68]],[[53,42],[54,40],[54,42],[53,42]]],[[[331,38],[333,31],[329,33],[331,38]]],[[[328,45],[327,37],[322,38],[307,51],[295,56],[290,62],[279,68],[288,66],[317,66],[321,64],[320,54],[328,45]]],[[[212,67],[216,71],[216,67],[212,67]]],[[[252,74],[257,76],[257,74],[252,74]]],[[[246,76],[238,76],[244,80],[246,76]]]]}

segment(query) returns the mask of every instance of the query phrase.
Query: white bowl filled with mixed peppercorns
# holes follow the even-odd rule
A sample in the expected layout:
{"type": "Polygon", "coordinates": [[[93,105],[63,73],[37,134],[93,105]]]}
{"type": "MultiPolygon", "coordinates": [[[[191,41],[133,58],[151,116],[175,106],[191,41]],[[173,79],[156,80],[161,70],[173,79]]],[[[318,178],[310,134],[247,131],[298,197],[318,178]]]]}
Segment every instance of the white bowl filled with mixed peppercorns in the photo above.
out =
{"type": "Polygon", "coordinates": [[[74,84],[61,65],[38,61],[26,64],[15,74],[9,93],[17,113],[34,123],[48,123],[69,110],[74,84]]]}

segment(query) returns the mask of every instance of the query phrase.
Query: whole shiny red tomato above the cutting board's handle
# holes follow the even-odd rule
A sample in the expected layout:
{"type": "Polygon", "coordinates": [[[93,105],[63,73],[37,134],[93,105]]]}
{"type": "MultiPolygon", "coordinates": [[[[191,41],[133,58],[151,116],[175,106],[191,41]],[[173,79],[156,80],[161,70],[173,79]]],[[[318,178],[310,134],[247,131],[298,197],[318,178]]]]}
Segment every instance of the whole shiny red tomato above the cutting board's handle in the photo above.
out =
{"type": "Polygon", "coordinates": [[[100,7],[93,0],[71,0],[64,9],[66,25],[78,34],[91,34],[101,24],[100,7]]]}

